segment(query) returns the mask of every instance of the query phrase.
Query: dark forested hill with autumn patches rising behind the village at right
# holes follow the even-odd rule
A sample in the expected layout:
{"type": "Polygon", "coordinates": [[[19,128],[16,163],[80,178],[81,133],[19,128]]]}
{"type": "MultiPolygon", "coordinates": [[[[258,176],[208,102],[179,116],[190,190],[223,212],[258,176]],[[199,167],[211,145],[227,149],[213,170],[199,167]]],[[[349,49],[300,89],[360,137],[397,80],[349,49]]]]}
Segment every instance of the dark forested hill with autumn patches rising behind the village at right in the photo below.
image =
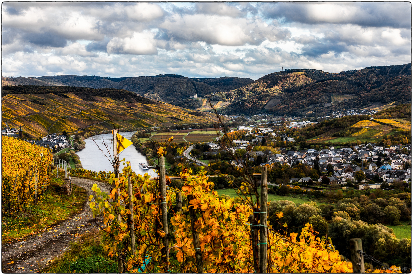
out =
{"type": "Polygon", "coordinates": [[[318,116],[375,102],[397,105],[411,100],[411,64],[341,73],[286,69],[228,92],[226,100],[233,104],[223,113],[245,115],[318,116]]]}

